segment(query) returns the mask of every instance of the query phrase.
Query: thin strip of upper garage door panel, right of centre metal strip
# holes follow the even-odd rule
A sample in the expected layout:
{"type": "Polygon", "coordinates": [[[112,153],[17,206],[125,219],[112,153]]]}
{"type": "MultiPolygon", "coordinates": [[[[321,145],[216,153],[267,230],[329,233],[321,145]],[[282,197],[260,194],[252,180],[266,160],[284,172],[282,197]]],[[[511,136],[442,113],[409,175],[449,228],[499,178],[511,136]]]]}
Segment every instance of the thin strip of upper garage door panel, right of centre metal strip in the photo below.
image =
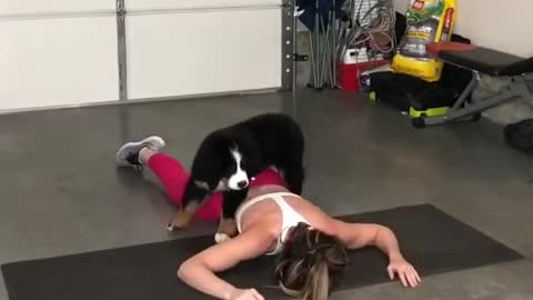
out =
{"type": "Polygon", "coordinates": [[[274,7],[281,0],[128,0],[128,10],[170,10],[198,8],[274,7]]]}

